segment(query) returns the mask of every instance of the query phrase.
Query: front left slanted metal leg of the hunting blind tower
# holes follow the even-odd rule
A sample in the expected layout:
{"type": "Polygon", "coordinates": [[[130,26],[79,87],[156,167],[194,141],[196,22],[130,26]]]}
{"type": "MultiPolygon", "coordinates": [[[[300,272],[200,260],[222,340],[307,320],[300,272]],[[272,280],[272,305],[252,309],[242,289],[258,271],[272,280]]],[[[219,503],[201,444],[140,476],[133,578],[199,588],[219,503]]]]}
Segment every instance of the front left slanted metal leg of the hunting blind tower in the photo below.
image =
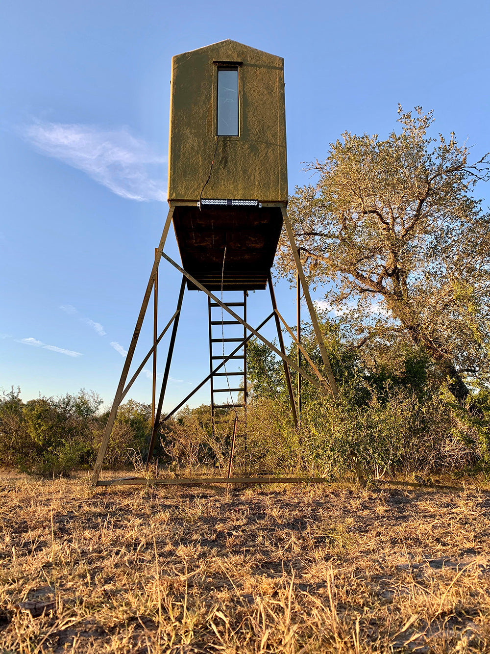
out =
{"type": "Polygon", "coordinates": [[[167,241],[167,235],[169,233],[169,229],[172,224],[173,215],[174,215],[174,209],[173,207],[170,207],[169,213],[167,214],[167,220],[165,220],[165,225],[163,226],[163,232],[161,233],[161,239],[158,246],[158,253],[154,260],[152,272],[150,273],[150,279],[148,280],[148,285],[146,286],[146,291],[144,292],[140,313],[136,321],[135,331],[133,332],[131,343],[129,343],[129,348],[127,350],[126,359],[119,380],[118,388],[116,390],[116,395],[114,396],[114,402],[112,402],[112,407],[110,409],[109,417],[107,419],[104,435],[102,437],[101,447],[99,447],[99,454],[97,455],[97,460],[95,461],[95,466],[93,467],[92,478],[90,481],[91,487],[94,487],[97,484],[97,481],[99,481],[99,476],[101,474],[102,464],[104,461],[104,456],[106,453],[110,434],[112,432],[112,427],[114,426],[114,421],[116,420],[116,413],[118,411],[119,405],[121,404],[123,388],[126,383],[127,375],[129,373],[129,368],[133,360],[133,354],[135,353],[136,345],[138,343],[141,326],[143,324],[143,318],[146,313],[146,309],[148,307],[148,302],[150,301],[150,296],[152,294],[152,288],[155,281],[155,275],[158,269],[158,264],[160,263],[161,255],[163,254],[163,247],[165,246],[165,241],[167,241]]]}

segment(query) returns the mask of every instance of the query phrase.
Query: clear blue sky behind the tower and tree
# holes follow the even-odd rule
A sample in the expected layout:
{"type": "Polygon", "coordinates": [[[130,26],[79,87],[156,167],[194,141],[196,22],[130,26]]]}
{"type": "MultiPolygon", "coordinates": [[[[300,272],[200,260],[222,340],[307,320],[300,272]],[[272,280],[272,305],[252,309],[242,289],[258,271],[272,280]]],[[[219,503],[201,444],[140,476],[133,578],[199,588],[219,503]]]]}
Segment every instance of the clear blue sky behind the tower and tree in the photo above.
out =
{"type": "MultiPolygon", "coordinates": [[[[398,103],[433,109],[475,157],[490,150],[489,18],[487,0],[4,0],[0,387],[112,400],[167,213],[172,55],[229,38],[284,57],[292,191],[342,131],[387,135],[398,103]]],[[[178,285],[162,264],[162,327],[178,285]]],[[[295,293],[276,292],[293,323],[295,293]]],[[[267,298],[250,296],[253,324],[267,298]]],[[[208,373],[206,311],[186,294],[167,408],[208,373]]],[[[145,374],[130,395],[151,400],[145,374]]],[[[208,401],[204,387],[194,404],[208,401]]]]}

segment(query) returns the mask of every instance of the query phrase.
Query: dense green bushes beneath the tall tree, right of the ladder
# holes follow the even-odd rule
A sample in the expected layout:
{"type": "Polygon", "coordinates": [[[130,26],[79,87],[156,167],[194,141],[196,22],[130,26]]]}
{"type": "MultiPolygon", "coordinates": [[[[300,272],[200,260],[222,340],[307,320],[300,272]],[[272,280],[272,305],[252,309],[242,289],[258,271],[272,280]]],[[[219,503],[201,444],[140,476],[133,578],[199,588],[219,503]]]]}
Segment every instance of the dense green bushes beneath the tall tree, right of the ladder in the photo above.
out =
{"type": "MultiPolygon", "coordinates": [[[[466,405],[457,402],[423,347],[399,342],[369,356],[342,339],[338,325],[321,325],[335,370],[340,397],[334,402],[302,382],[301,426],[291,424],[284,377],[274,396],[261,389],[276,383],[277,360],[269,368],[250,361],[252,405],[248,424],[253,438],[269,440],[269,473],[282,470],[334,477],[346,470],[361,476],[470,470],[490,471],[490,404],[485,391],[472,392],[466,405]],[[474,404],[478,410],[468,411],[474,404]]],[[[321,369],[311,327],[303,326],[303,343],[321,369]]],[[[292,353],[291,353],[292,354],[292,353]]]]}

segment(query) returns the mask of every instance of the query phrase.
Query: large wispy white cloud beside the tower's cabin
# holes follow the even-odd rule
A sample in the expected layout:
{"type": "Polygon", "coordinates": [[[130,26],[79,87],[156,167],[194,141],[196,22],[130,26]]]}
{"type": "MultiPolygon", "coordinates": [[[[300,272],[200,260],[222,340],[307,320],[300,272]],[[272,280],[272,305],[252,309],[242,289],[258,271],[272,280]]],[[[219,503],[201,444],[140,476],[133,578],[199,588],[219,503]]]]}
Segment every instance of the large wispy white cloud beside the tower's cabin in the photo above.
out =
{"type": "Polygon", "coordinates": [[[129,133],[91,125],[37,121],[22,136],[43,154],[87,173],[113,193],[131,200],[167,199],[161,165],[167,160],[129,133]]]}

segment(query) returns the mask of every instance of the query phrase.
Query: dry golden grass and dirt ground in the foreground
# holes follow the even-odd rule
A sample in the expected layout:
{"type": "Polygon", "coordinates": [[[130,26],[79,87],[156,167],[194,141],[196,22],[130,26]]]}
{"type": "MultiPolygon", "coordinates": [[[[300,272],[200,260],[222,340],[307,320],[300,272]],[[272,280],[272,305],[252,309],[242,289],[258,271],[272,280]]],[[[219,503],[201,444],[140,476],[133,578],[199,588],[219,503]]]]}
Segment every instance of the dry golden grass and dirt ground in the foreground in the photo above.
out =
{"type": "Polygon", "coordinates": [[[490,651],[488,487],[5,473],[0,519],[3,654],[490,651]]]}

